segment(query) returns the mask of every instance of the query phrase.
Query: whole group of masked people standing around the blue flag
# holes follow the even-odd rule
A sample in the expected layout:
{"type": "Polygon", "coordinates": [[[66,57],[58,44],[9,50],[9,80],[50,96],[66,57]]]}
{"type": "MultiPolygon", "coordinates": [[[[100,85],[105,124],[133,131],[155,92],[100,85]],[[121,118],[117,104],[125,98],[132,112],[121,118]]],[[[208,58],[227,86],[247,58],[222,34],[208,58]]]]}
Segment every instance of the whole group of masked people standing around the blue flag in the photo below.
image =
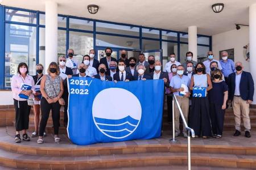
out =
{"type": "MultiPolygon", "coordinates": [[[[172,106],[172,96],[176,96],[185,120],[195,130],[196,137],[222,137],[224,114],[228,99],[232,100],[236,121],[235,136],[241,134],[241,113],[245,126],[245,136],[250,137],[249,105],[253,101],[254,82],[246,71],[243,71],[241,62],[228,59],[228,53],[222,52],[221,61],[213,59],[213,53],[208,52],[205,62],[193,61],[193,53],[187,52],[187,61],[182,65],[176,61],[175,53],[170,54],[170,61],[162,71],[162,63],[143,53],[139,54],[138,62],[135,57],[127,59],[126,50],[121,51],[121,58],[112,57],[112,49],[106,48],[106,57],[98,61],[94,58],[95,50],[90,50],[79,63],[72,49],[68,50],[68,58],[61,56],[58,63],[51,62],[47,74],[43,74],[44,66],[36,65],[36,75],[28,75],[26,63],[19,63],[18,74],[11,79],[15,107],[15,142],[21,142],[19,131],[23,131],[23,141],[30,141],[27,135],[31,105],[35,113],[35,131],[31,137],[38,137],[37,143],[44,142],[46,125],[49,113],[52,113],[54,139],[60,142],[60,107],[64,105],[64,126],[68,123],[68,86],[67,78],[72,76],[93,77],[102,81],[124,81],[163,79],[164,94],[167,95],[168,120],[171,122],[172,107],[175,108],[175,135],[180,135],[179,109],[172,106]],[[30,84],[30,89],[20,88],[22,84],[30,84]],[[205,94],[193,95],[195,89],[203,89],[205,94]],[[26,97],[20,97],[20,95],[26,97]],[[32,99],[31,102],[28,102],[32,99]],[[39,122],[40,112],[42,118],[39,122]],[[40,126],[39,126],[40,124],[40,126]]],[[[165,99],[165,97],[164,97],[165,99]]],[[[183,136],[187,137],[183,128],[183,136]]]]}

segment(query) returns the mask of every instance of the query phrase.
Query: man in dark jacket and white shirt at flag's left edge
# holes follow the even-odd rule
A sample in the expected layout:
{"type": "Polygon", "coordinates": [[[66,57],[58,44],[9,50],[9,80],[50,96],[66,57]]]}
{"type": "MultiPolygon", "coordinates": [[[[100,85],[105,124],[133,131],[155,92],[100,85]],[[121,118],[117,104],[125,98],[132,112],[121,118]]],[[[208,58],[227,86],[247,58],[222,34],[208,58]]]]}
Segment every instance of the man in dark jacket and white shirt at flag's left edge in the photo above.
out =
{"type": "Polygon", "coordinates": [[[67,77],[73,74],[71,68],[66,66],[67,59],[64,56],[59,57],[59,69],[60,69],[60,76],[63,79],[63,99],[65,101],[64,105],[64,126],[67,127],[68,125],[68,82],[67,77]]]}

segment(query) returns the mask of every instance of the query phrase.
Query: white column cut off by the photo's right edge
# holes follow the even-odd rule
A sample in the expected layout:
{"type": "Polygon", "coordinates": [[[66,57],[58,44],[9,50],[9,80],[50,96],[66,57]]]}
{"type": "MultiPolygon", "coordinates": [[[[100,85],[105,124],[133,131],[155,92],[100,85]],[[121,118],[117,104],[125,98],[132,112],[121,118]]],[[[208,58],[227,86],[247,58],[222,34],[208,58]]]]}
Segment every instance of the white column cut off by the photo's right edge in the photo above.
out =
{"type": "MultiPolygon", "coordinates": [[[[256,83],[256,3],[249,8],[249,25],[250,73],[256,83]]],[[[256,91],[254,91],[253,104],[256,104],[256,91]]]]}

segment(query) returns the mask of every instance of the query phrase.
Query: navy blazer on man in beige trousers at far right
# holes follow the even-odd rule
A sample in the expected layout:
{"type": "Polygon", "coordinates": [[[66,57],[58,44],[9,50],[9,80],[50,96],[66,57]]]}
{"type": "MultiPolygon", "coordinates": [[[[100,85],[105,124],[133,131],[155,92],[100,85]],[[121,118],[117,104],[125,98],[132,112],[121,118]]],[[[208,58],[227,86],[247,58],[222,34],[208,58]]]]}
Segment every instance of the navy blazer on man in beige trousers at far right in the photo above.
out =
{"type": "MultiPolygon", "coordinates": [[[[234,92],[236,88],[236,72],[229,75],[228,87],[229,87],[229,100],[233,100],[234,92]]],[[[253,77],[249,72],[242,71],[241,80],[240,80],[240,96],[243,100],[253,101],[253,94],[254,94],[253,77]]]]}

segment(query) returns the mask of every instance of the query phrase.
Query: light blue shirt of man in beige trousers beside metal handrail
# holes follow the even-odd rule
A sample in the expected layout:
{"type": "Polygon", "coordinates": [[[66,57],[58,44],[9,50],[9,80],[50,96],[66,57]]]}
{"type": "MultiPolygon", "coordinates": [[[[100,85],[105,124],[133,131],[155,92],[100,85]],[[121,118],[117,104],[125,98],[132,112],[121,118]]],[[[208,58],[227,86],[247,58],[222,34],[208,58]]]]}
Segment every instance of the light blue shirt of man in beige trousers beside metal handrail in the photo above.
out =
{"type": "MultiPolygon", "coordinates": [[[[183,75],[183,76],[181,76],[181,78],[179,75],[175,75],[172,77],[171,82],[170,82],[170,86],[172,88],[175,88],[175,89],[180,88],[181,84],[185,84],[189,87],[190,79],[187,75],[183,75]]],[[[179,95],[179,93],[180,92],[174,92],[174,95],[179,95]]]]}

